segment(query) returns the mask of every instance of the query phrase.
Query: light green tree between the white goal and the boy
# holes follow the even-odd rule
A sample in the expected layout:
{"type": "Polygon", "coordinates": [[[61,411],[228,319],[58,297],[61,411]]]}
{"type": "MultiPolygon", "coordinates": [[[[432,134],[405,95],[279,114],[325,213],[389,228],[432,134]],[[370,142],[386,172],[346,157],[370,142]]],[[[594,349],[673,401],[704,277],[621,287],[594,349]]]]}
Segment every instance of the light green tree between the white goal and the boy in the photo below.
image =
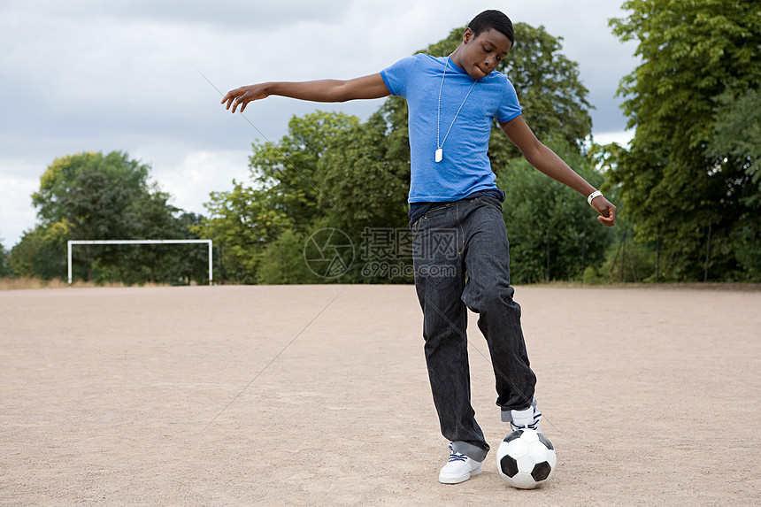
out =
{"type": "Polygon", "coordinates": [[[304,245],[297,248],[293,238],[303,237],[321,219],[346,212],[334,203],[330,186],[321,183],[322,158],[337,137],[358,127],[357,117],[343,113],[316,111],[295,117],[280,142],[253,145],[251,186],[234,181],[232,191],[211,193],[211,201],[204,204],[210,216],[196,231],[219,244],[225,280],[280,280],[274,273],[284,248],[295,248],[286,257],[304,263],[304,245]],[[265,255],[267,246],[290,229],[298,234],[289,234],[265,255]],[[258,273],[263,259],[267,265],[258,273]]]}

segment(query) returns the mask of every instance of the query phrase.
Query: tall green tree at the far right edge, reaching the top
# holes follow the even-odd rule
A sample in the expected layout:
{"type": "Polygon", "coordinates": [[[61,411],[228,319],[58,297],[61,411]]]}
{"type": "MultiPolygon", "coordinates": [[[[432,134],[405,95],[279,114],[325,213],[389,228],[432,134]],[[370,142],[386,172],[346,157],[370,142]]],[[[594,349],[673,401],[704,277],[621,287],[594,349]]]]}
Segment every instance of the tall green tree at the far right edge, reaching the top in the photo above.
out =
{"type": "Polygon", "coordinates": [[[702,280],[709,254],[712,279],[747,279],[737,237],[757,230],[757,152],[725,134],[752,123],[727,97],[753,93],[761,81],[761,9],[755,0],[623,7],[629,16],[611,26],[621,40],[639,41],[642,58],[619,88],[628,127],[636,128],[613,172],[626,214],[641,241],[662,239],[673,259],[669,278],[702,280]]]}

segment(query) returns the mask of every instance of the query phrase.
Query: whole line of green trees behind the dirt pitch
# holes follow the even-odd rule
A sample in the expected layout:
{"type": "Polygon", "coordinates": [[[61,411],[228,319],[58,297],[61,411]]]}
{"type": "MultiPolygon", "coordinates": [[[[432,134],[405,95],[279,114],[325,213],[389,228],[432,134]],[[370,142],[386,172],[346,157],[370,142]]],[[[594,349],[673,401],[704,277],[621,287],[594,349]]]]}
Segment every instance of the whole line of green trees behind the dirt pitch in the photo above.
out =
{"type": "MultiPolygon", "coordinates": [[[[591,105],[578,65],[543,27],[515,25],[516,44],[498,70],[519,91],[535,134],[603,189],[619,223],[599,227],[583,198],[536,172],[495,127],[488,156],[507,194],[513,283],[761,281],[761,10],[752,0],[629,0],[624,8],[611,28],[638,41],[642,59],[619,88],[635,129],[628,148],[588,142],[591,105]]],[[[462,31],[423,52],[450,54],[462,31]]],[[[216,245],[215,278],[226,282],[411,282],[409,163],[407,109],[397,97],[365,121],[327,111],[291,119],[280,141],[253,144],[250,179],[211,192],[205,216],[167,204],[150,167],[126,153],[61,157],[33,196],[37,225],[0,252],[0,275],[62,277],[68,239],[204,237],[216,245]],[[321,231],[340,232],[350,258],[332,243],[338,235],[321,231]],[[340,276],[314,269],[315,252],[341,261],[331,272],[340,276]]],[[[87,247],[74,267],[94,281],[203,282],[205,259],[202,249],[87,247]]]]}

